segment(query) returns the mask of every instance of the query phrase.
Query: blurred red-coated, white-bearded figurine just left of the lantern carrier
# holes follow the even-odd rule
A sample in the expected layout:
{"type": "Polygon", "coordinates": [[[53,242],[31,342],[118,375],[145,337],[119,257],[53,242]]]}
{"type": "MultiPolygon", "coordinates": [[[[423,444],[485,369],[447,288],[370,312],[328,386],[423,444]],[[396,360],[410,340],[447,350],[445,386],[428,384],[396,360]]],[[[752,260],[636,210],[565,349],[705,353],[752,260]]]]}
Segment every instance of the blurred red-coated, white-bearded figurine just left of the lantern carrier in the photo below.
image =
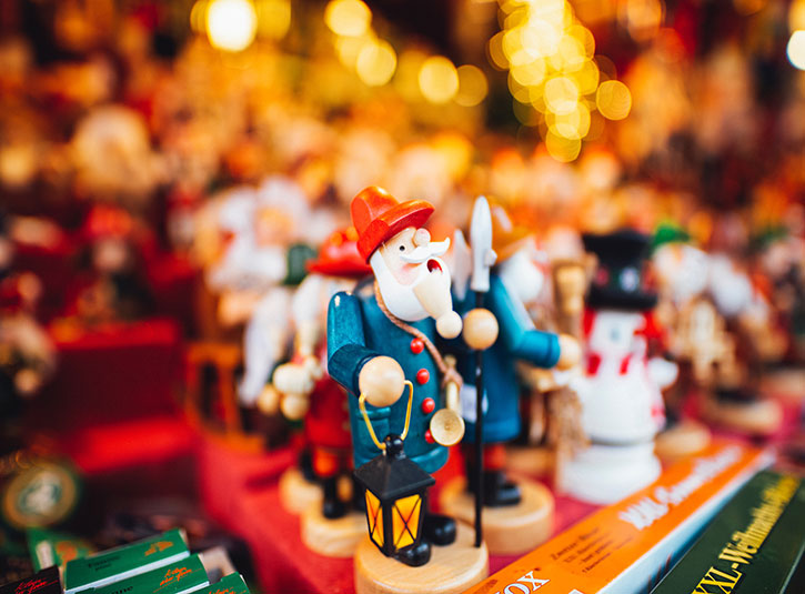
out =
{"type": "Polygon", "coordinates": [[[309,262],[310,274],[291,304],[295,331],[291,362],[273,373],[272,392],[261,396],[263,411],[279,407],[289,420],[303,420],[305,447],[318,485],[311,492],[303,473],[288,471],[280,480],[283,505],[302,515],[302,540],[326,556],[352,556],[365,533],[362,507],[351,512],[342,500],[339,480],[352,471],[352,439],[346,392],[326,373],[326,314],[330,299],[350,291],[372,269],[358,253],[353,228],[333,233],[309,262]],[[355,513],[358,512],[358,513],[355,513]]]}

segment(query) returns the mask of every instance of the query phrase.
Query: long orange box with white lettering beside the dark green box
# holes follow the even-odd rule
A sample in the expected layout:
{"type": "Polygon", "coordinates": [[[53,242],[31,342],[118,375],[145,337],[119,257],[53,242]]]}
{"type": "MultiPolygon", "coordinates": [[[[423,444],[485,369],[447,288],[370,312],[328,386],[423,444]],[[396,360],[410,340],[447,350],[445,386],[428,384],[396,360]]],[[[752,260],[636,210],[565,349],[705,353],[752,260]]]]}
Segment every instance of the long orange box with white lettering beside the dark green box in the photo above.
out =
{"type": "Polygon", "coordinates": [[[652,485],[604,507],[467,592],[636,594],[647,592],[724,503],[773,460],[716,442],[666,469],[652,485]]]}

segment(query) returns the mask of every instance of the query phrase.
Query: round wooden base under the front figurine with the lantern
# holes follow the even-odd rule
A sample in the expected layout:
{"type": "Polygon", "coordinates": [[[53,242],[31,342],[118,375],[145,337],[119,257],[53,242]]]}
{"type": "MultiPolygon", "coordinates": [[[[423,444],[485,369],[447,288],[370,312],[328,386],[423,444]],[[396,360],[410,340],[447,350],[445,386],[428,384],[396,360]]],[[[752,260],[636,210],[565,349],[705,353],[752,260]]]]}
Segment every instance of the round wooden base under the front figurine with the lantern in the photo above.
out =
{"type": "Polygon", "coordinates": [[[455,542],[433,546],[431,561],[409,567],[386,557],[365,536],[355,551],[356,594],[459,594],[490,572],[486,545],[473,546],[475,532],[459,523],[455,542]]]}

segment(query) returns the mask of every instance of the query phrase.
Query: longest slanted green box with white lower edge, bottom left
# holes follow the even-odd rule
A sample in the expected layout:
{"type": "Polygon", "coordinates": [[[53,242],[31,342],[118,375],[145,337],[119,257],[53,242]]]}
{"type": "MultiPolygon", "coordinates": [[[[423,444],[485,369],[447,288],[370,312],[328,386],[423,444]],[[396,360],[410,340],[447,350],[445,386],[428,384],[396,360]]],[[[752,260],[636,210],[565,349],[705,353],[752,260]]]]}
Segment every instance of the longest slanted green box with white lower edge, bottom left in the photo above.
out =
{"type": "Polygon", "coordinates": [[[179,530],[119,546],[91,557],[70,561],[64,570],[64,592],[74,594],[181,561],[190,555],[179,530]]]}

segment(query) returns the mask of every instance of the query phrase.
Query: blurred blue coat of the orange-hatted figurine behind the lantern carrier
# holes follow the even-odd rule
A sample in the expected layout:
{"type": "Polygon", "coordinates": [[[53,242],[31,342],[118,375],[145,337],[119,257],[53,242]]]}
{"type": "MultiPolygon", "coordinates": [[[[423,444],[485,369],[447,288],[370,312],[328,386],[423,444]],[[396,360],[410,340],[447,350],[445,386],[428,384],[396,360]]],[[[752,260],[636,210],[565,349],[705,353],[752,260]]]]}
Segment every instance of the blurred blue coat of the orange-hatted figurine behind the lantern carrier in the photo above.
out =
{"type": "MultiPolygon", "coordinates": [[[[475,306],[475,293],[467,291],[455,310],[464,314],[475,306]]],[[[509,294],[500,276],[492,273],[484,306],[497,319],[500,334],[483,353],[483,380],[487,406],[484,414],[483,443],[501,443],[520,434],[520,383],[516,360],[540,368],[552,368],[559,361],[559,336],[534,328],[522,302],[509,294]]],[[[465,351],[457,370],[465,386],[475,386],[475,353],[465,351]]],[[[474,415],[473,415],[474,417],[474,415]]],[[[475,441],[475,423],[466,419],[464,441],[475,441]]]]}

